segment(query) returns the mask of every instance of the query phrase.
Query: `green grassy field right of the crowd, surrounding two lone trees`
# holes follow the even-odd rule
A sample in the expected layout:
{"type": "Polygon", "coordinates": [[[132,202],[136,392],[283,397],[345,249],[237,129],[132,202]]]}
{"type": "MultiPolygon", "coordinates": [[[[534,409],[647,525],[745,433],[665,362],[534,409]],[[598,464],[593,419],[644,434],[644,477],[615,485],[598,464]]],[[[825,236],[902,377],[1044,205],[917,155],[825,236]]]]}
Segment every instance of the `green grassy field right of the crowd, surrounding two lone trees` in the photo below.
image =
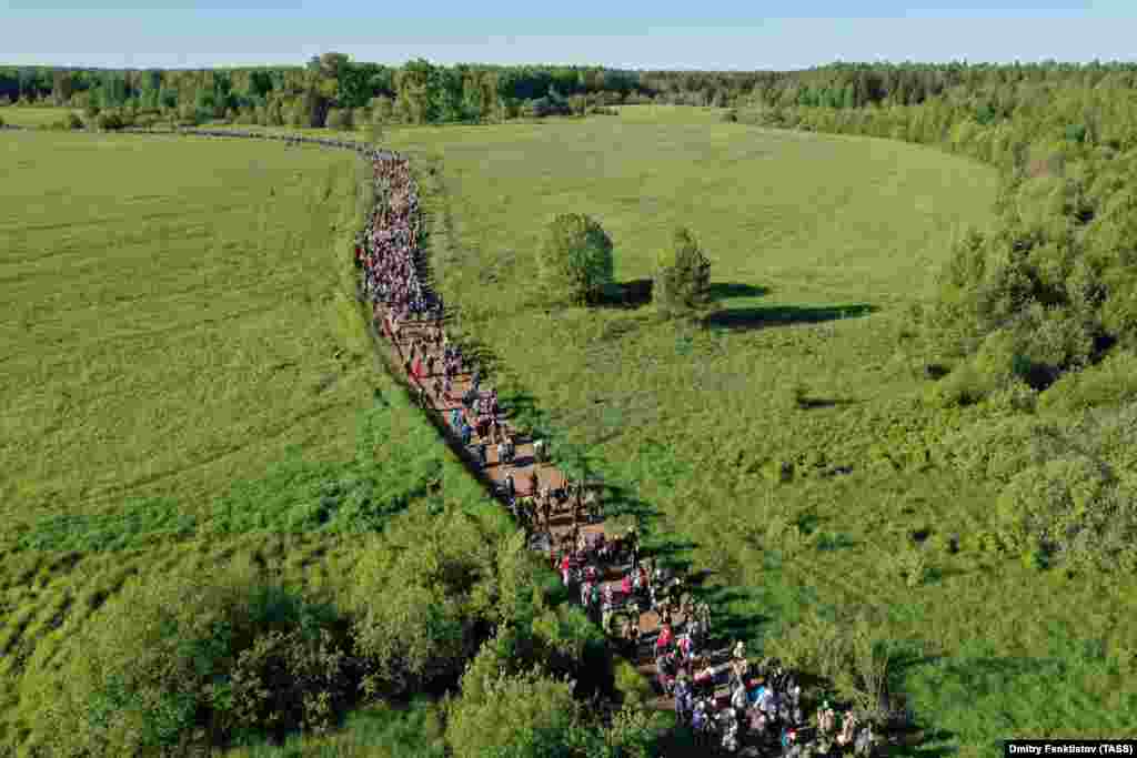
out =
{"type": "Polygon", "coordinates": [[[958,227],[991,217],[994,172],[889,141],[628,111],[389,135],[438,169],[432,255],[493,381],[619,488],[617,507],[652,519],[657,545],[712,569],[731,632],[774,649],[799,622],[871,614],[924,726],[918,752],[1122,733],[1137,713],[1121,661],[1132,582],[972,548],[993,491],[921,465],[974,414],[922,401],[907,307],[958,227]],[[709,328],[541,306],[532,255],[564,211],[604,224],[621,281],[649,276],[690,226],[713,261],[709,328]],[[920,559],[910,586],[904,561],[920,559]]]}

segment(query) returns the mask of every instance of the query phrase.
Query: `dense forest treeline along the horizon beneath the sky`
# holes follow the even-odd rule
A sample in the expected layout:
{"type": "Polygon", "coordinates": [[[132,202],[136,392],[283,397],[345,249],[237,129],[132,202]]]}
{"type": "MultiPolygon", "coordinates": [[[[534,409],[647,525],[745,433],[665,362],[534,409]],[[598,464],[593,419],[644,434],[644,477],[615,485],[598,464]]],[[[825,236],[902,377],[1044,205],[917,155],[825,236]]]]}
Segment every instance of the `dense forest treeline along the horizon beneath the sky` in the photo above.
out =
{"type": "Polygon", "coordinates": [[[198,122],[265,125],[343,122],[445,123],[583,114],[590,108],[671,103],[731,107],[973,107],[980,123],[1009,115],[1037,86],[1132,90],[1132,64],[835,64],[800,72],[622,70],[599,66],[404,66],[342,53],[307,66],[218,69],[0,67],[0,103],[172,113],[198,122]],[[982,93],[976,100],[971,95],[982,93]]]}

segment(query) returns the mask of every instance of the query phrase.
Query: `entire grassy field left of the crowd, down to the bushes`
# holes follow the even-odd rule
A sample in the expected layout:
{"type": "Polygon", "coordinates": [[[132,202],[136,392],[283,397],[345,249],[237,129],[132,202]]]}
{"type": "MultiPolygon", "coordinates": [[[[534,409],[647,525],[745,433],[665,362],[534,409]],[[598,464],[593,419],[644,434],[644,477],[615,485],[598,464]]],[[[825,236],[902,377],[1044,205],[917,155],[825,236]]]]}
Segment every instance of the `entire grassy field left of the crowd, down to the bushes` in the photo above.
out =
{"type": "Polygon", "coordinates": [[[7,755],[35,742],[25,693],[132,576],[254,560],[318,592],[430,485],[483,495],[373,352],[352,156],[42,133],[0,152],[7,755]]]}

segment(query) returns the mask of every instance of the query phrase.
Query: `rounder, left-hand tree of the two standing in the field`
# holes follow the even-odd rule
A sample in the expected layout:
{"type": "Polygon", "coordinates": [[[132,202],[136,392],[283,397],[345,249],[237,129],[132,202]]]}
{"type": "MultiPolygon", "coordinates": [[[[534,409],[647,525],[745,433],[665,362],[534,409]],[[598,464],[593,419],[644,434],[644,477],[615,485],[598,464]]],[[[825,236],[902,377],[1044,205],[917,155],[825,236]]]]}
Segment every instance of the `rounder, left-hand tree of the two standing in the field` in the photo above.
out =
{"type": "Polygon", "coordinates": [[[553,298],[595,301],[612,283],[612,239],[583,214],[562,214],[549,224],[537,266],[553,298]]]}

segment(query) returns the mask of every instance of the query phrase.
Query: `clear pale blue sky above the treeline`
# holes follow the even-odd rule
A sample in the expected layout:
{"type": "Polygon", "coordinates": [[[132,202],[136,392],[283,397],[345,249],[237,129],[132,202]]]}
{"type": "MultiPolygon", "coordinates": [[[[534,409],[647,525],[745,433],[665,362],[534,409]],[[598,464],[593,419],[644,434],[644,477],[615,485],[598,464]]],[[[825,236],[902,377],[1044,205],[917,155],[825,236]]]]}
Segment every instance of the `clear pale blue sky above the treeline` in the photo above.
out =
{"type": "Polygon", "coordinates": [[[0,64],[301,64],[332,50],[383,64],[722,70],[1132,61],[1137,0],[0,0],[0,64]]]}

